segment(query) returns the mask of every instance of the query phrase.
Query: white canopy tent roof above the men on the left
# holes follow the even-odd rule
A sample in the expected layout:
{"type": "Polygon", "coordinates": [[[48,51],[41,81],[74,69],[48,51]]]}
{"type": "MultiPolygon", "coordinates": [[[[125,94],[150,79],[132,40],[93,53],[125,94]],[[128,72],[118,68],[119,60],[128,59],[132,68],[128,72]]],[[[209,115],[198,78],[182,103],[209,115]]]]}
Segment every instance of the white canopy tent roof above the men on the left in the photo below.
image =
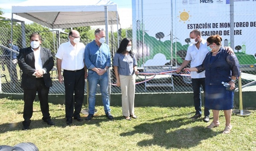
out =
{"type": "Polygon", "coordinates": [[[12,13],[51,29],[79,25],[119,24],[117,4],[110,0],[27,0],[12,6],[12,13]],[[106,10],[107,6],[107,10],[106,10]]]}

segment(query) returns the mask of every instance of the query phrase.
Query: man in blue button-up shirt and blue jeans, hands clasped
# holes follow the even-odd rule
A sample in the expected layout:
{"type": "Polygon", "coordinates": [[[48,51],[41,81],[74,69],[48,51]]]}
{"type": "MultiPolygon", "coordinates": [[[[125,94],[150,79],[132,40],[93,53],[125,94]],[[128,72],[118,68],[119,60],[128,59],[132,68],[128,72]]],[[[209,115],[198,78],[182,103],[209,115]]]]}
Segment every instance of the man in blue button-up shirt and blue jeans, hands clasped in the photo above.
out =
{"type": "Polygon", "coordinates": [[[95,39],[86,45],[84,52],[84,62],[88,69],[87,82],[89,85],[89,115],[85,120],[93,118],[95,110],[95,95],[97,85],[100,85],[100,92],[102,94],[102,103],[105,114],[108,119],[114,119],[110,111],[110,102],[108,96],[108,73],[107,70],[111,67],[111,56],[109,46],[105,44],[105,31],[98,28],[94,32],[95,39]]]}

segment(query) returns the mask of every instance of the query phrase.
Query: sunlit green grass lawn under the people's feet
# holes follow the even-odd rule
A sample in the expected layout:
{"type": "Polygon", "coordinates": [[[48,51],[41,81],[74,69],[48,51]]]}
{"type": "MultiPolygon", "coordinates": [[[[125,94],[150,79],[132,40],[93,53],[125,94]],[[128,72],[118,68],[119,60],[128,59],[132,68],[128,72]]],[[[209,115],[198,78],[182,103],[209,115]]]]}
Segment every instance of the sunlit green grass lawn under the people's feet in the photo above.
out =
{"type": "MultiPolygon", "coordinates": [[[[256,151],[256,110],[250,116],[232,116],[233,129],[222,134],[225,128],[223,111],[221,125],[211,130],[202,119],[189,119],[194,107],[135,107],[138,119],[122,117],[121,107],[111,107],[113,121],[109,121],[102,106],[97,106],[95,117],[87,122],[73,120],[68,126],[64,105],[50,105],[55,126],[41,120],[39,102],[29,131],[22,131],[23,101],[0,99],[0,145],[14,146],[32,142],[39,151],[256,151]]],[[[211,115],[212,116],[212,113],[211,115]]],[[[210,118],[212,121],[212,117],[210,118]]]]}

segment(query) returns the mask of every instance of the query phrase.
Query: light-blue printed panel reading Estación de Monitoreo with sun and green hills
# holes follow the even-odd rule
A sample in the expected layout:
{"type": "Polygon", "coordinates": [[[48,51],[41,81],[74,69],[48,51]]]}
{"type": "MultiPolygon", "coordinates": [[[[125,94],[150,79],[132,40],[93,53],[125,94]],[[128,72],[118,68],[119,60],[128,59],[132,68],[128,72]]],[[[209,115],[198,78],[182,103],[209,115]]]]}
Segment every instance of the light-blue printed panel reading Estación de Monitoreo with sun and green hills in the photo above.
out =
{"type": "Polygon", "coordinates": [[[256,0],[234,0],[231,25],[230,0],[133,0],[133,49],[138,62],[141,67],[180,65],[190,44],[189,33],[199,29],[204,39],[221,35],[223,46],[230,46],[233,32],[239,63],[256,64],[255,6],[256,0]]]}

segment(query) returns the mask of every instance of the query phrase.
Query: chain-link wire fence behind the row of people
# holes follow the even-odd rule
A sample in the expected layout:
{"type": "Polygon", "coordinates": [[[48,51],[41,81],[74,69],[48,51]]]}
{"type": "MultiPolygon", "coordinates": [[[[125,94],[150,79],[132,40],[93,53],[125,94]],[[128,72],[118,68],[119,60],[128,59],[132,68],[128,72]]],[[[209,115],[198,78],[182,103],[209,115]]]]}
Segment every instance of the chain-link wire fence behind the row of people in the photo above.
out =
{"type": "MultiPolygon", "coordinates": [[[[231,46],[230,26],[232,25],[230,24],[229,9],[219,14],[210,13],[206,15],[205,12],[200,13],[200,11],[195,13],[196,9],[202,9],[205,6],[190,8],[183,4],[184,1],[186,0],[176,2],[177,6],[172,9],[174,8],[172,1],[160,0],[158,3],[148,0],[144,2],[142,11],[142,4],[138,0],[134,0],[133,10],[141,14],[133,14],[133,20],[130,23],[132,28],[116,30],[116,24],[109,22],[107,37],[111,52],[111,63],[119,42],[125,37],[133,39],[132,49],[137,58],[140,72],[136,78],[136,93],[192,91],[190,76],[186,75],[187,73],[183,70],[180,73],[176,73],[175,70],[186,57],[186,51],[190,44],[189,32],[193,29],[201,30],[204,39],[207,39],[210,35],[219,34],[223,36],[222,45],[231,46]],[[152,7],[153,4],[155,7],[152,7]],[[216,19],[210,20],[209,18],[216,19]]],[[[245,3],[243,7],[246,7],[245,3]]],[[[242,85],[246,86],[256,81],[256,52],[254,44],[251,44],[256,33],[256,13],[236,11],[233,18],[235,34],[233,50],[239,59],[242,85]]],[[[29,35],[38,32],[42,37],[41,46],[49,48],[55,58],[58,46],[68,41],[67,34],[71,28],[80,33],[80,42],[85,45],[93,41],[95,38],[94,30],[102,26],[99,26],[96,20],[94,22],[90,20],[90,26],[87,26],[87,24],[84,24],[86,21],[82,18],[78,23],[58,20],[58,23],[64,28],[51,29],[48,24],[44,23],[1,20],[1,93],[23,93],[20,88],[22,70],[20,70],[17,63],[13,64],[12,58],[6,55],[7,50],[18,54],[15,49],[9,47],[7,43],[9,39],[12,38],[12,44],[21,49],[29,47],[29,35]],[[67,24],[66,27],[65,24],[67,24]],[[73,26],[70,27],[70,24],[73,26]],[[10,67],[11,65],[12,67],[10,67]]],[[[50,88],[50,93],[64,93],[64,84],[58,82],[56,58],[51,76],[53,87],[50,88]]],[[[111,77],[109,82],[111,93],[121,93],[120,87],[114,85],[116,77],[112,68],[110,68],[109,76],[111,77]]],[[[86,85],[85,90],[87,91],[86,85]]]]}

